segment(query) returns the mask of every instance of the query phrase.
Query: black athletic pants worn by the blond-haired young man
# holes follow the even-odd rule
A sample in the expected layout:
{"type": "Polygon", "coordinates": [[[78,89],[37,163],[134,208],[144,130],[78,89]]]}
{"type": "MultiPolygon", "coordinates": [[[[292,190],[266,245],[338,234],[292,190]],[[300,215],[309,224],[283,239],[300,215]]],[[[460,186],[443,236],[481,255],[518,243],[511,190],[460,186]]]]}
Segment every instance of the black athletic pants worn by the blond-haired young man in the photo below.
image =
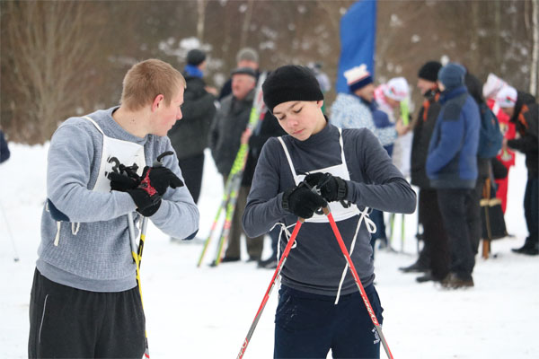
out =
{"type": "Polygon", "coordinates": [[[138,287],[97,293],[59,285],[36,269],[29,358],[142,358],[145,318],[138,287]]]}

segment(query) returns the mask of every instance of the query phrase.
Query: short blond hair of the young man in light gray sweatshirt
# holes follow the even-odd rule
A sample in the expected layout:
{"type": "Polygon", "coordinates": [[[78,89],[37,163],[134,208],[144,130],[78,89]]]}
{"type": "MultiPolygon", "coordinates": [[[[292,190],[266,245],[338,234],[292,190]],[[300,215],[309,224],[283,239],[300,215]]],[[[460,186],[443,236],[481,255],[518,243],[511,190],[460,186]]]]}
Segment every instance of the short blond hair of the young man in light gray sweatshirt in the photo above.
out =
{"type": "Polygon", "coordinates": [[[162,94],[169,106],[180,88],[185,88],[185,78],[170,64],[150,58],[132,66],[123,80],[120,103],[135,111],[152,104],[162,94]]]}

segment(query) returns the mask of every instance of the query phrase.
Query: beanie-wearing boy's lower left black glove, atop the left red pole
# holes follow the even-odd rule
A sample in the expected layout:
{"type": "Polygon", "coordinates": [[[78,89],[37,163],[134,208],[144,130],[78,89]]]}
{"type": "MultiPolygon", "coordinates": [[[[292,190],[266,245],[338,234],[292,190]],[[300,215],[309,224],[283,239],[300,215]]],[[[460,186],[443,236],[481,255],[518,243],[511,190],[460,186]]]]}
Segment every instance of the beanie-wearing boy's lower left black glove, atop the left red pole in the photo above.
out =
{"type": "Polygon", "coordinates": [[[328,206],[328,203],[322,196],[300,183],[297,187],[285,191],[282,206],[288,212],[306,219],[311,218],[318,208],[328,206]]]}

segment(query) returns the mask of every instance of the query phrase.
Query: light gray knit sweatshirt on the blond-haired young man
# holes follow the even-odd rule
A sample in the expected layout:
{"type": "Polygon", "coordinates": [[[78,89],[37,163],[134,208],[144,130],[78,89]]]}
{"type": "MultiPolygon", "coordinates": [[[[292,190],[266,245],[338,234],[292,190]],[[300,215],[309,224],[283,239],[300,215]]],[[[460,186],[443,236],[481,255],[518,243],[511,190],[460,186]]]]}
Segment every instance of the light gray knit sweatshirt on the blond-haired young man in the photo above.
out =
{"type": "MultiPolygon", "coordinates": [[[[106,136],[143,145],[150,165],[159,154],[172,151],[168,137],[129,134],[112,118],[114,109],[118,107],[88,116],[106,136]]],[[[61,285],[120,292],[137,285],[127,214],[134,213],[135,220],[139,215],[128,193],[92,190],[102,160],[102,142],[102,133],[86,118],[68,118],[52,136],[47,169],[49,205],[41,217],[37,267],[43,276],[61,285]],[[57,246],[58,215],[53,218],[52,213],[64,218],[59,222],[57,246]]],[[[181,178],[175,156],[164,157],[163,165],[181,178]]],[[[198,231],[199,210],[186,187],[168,188],[150,220],[166,234],[186,238],[198,231]]],[[[148,238],[146,245],[151,241],[148,238]]]]}

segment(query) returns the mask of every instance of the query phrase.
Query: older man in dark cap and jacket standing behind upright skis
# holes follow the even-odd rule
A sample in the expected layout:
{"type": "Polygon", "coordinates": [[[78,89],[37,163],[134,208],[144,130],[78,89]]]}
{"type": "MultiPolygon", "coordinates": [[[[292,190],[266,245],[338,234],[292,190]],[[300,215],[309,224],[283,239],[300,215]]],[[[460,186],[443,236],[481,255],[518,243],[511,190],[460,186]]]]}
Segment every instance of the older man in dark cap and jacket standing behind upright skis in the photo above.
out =
{"type": "MultiPolygon", "coordinates": [[[[233,71],[232,79],[232,94],[221,101],[221,108],[216,112],[210,130],[209,146],[216,162],[217,171],[223,175],[225,181],[232,169],[240,144],[249,144],[249,153],[247,154],[242,187],[238,193],[223,262],[240,260],[240,238],[243,233],[241,219],[262,145],[270,136],[284,134],[284,131],[278,126],[277,119],[269,113],[265,114],[263,120],[253,131],[246,130],[252,109],[256,74],[252,68],[240,67],[233,71]]],[[[261,259],[263,238],[262,235],[247,240],[247,252],[250,260],[261,259]]]]}

